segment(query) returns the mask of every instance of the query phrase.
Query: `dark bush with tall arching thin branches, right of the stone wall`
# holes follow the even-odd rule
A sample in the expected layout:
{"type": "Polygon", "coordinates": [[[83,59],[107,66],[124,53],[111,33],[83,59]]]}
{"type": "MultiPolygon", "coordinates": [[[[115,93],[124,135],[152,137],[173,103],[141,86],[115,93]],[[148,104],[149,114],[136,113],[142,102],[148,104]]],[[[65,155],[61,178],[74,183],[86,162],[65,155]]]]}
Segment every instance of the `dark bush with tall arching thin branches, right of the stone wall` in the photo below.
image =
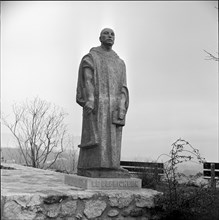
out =
{"type": "MultiPolygon", "coordinates": [[[[163,154],[164,155],[164,154],[163,154]]],[[[179,184],[177,165],[193,158],[199,163],[205,161],[197,149],[187,141],[178,139],[172,144],[169,160],[166,162],[166,184],[163,195],[156,199],[157,209],[163,220],[218,220],[219,191],[205,187],[179,184]]]]}

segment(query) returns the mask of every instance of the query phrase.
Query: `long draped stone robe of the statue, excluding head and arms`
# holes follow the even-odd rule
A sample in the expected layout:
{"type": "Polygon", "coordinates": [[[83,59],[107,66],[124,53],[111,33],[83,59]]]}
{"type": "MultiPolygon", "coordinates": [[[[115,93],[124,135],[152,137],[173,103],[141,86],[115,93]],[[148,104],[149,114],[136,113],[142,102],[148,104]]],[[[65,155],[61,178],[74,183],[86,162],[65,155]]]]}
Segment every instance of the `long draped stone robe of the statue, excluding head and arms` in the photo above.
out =
{"type": "Polygon", "coordinates": [[[122,95],[126,112],[129,105],[125,63],[113,50],[105,51],[101,47],[92,48],[82,58],[76,97],[82,107],[87,101],[84,68],[90,68],[93,73],[94,110],[90,114],[83,110],[78,170],[117,169],[124,125],[124,120],[117,118],[122,95]]]}

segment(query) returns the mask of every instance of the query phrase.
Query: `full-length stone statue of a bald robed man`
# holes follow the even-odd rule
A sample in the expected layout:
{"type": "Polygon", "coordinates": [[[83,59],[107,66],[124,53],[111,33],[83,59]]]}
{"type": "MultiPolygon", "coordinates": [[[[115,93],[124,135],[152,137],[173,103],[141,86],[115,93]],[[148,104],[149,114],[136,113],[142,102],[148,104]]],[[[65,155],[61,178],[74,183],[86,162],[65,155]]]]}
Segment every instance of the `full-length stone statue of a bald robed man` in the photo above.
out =
{"type": "Polygon", "coordinates": [[[115,34],[101,31],[101,46],[80,63],[77,103],[83,107],[78,172],[80,176],[129,178],[120,167],[122,128],[129,105],[125,63],[112,50],[115,34]]]}

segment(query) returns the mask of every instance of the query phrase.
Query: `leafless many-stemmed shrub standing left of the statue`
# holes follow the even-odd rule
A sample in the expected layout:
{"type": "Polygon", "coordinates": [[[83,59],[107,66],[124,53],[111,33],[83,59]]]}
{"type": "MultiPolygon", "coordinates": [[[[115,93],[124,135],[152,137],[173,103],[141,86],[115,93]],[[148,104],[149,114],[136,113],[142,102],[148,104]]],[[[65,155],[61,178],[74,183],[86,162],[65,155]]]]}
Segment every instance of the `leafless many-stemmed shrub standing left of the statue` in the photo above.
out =
{"type": "Polygon", "coordinates": [[[49,155],[53,155],[54,163],[64,150],[66,114],[39,98],[14,104],[12,109],[13,122],[3,122],[15,137],[26,165],[43,168],[49,155]]]}

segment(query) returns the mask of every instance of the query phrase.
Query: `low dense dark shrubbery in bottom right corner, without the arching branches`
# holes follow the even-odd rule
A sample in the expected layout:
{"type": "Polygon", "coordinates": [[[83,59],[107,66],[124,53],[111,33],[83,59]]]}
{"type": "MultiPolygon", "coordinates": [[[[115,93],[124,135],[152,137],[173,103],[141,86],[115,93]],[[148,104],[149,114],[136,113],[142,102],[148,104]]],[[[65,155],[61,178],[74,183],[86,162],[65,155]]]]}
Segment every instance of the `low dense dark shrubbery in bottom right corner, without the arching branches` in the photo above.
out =
{"type": "Polygon", "coordinates": [[[177,201],[166,191],[157,197],[156,206],[162,220],[218,220],[219,191],[182,186],[177,189],[177,201]]]}

